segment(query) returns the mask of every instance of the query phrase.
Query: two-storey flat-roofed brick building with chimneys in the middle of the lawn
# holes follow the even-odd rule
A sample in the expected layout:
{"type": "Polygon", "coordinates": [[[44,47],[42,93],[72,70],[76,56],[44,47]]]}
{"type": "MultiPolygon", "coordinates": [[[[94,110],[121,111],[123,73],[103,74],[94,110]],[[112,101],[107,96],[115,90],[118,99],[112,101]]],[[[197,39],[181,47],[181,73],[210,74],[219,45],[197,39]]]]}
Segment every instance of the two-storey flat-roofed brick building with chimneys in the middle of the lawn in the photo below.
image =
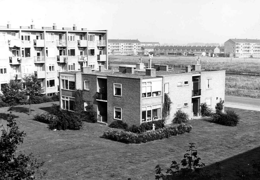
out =
{"type": "Polygon", "coordinates": [[[200,64],[185,71],[169,71],[168,65],[155,64],[144,69],[143,63],[120,65],[118,70],[60,73],[60,108],[74,110],[75,90],[83,90],[84,108],[93,105],[99,123],[124,121],[128,125],[162,118],[164,93],[172,101],[170,118],[182,110],[190,118],[200,116],[200,103],[215,109],[225,98],[225,71],[203,71],[200,64]],[[69,84],[69,86],[68,86],[69,84]]]}

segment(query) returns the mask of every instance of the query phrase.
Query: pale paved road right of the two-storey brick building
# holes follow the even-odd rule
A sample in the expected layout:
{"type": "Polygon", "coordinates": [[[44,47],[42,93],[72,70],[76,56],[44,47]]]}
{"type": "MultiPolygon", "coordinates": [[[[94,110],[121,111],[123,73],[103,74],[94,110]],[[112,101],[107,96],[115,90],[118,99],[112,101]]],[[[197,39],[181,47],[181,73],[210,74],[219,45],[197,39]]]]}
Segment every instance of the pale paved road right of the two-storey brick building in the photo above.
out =
{"type": "Polygon", "coordinates": [[[225,106],[239,109],[260,111],[260,99],[225,96],[225,106]]]}

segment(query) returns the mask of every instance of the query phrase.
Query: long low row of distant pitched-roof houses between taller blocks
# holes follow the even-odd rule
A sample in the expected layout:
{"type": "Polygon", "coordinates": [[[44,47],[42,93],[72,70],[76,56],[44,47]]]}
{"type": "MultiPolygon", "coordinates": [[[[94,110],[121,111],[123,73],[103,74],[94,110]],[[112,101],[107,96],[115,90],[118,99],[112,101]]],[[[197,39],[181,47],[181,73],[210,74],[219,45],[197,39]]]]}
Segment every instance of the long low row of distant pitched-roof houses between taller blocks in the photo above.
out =
{"type": "Polygon", "coordinates": [[[155,55],[177,55],[177,56],[215,56],[220,53],[218,46],[155,46],[155,55]]]}

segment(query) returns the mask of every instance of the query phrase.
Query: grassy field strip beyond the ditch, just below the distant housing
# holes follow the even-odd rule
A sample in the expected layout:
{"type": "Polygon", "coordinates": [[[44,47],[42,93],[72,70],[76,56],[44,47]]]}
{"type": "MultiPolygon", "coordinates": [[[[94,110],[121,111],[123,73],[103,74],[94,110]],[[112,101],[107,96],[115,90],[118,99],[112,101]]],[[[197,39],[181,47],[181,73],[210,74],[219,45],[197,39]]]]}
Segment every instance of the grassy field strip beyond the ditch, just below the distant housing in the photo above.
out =
{"type": "MultiPolygon", "coordinates": [[[[118,64],[139,63],[141,56],[108,56],[112,65],[116,68],[118,64]]],[[[148,63],[148,57],[142,57],[143,63],[148,63]]],[[[185,68],[187,65],[197,63],[197,57],[187,56],[154,56],[153,64],[168,64],[169,67],[185,68]]],[[[260,73],[260,59],[256,58],[224,58],[224,57],[201,57],[201,68],[206,70],[226,70],[233,72],[260,73]],[[212,67],[211,67],[212,60],[212,67]]]]}

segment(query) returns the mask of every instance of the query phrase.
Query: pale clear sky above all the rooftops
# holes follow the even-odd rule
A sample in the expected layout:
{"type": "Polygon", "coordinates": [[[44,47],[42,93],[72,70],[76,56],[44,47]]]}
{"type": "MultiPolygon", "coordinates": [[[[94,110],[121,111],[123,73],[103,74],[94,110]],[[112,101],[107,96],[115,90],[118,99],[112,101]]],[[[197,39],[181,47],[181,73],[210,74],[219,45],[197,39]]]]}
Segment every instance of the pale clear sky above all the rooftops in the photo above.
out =
{"type": "Polygon", "coordinates": [[[0,26],[108,30],[109,39],[185,45],[260,39],[259,0],[0,0],[0,26]]]}

